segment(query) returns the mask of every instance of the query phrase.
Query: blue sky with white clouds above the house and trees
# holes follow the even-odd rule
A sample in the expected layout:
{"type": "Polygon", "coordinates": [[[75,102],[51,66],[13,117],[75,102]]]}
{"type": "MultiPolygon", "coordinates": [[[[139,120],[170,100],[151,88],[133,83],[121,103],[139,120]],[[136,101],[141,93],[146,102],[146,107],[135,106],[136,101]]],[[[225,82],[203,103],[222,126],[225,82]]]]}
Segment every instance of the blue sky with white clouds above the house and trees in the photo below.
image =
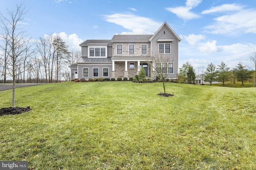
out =
{"type": "Polygon", "coordinates": [[[20,26],[32,39],[58,33],[70,51],[87,39],[154,34],[164,21],[182,39],[179,67],[252,66],[256,51],[256,0],[1,0],[0,12],[21,3],[28,12],[20,26]]]}

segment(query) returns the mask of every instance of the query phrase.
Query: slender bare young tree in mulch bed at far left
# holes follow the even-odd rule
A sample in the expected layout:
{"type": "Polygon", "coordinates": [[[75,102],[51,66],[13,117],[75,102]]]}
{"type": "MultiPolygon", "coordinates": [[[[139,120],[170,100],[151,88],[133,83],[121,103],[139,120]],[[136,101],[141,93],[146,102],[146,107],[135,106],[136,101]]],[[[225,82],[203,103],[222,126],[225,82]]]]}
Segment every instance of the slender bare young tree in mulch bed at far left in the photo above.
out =
{"type": "Polygon", "coordinates": [[[22,61],[22,55],[26,50],[26,44],[29,39],[26,38],[26,31],[22,31],[19,28],[18,24],[23,20],[24,14],[27,11],[24,11],[25,8],[22,8],[22,4],[19,6],[16,5],[16,11],[10,11],[7,9],[7,15],[9,19],[4,17],[2,13],[0,13],[0,22],[2,23],[2,27],[7,33],[6,39],[8,43],[8,48],[10,48],[10,53],[8,53],[8,57],[10,57],[10,74],[12,76],[12,107],[15,107],[15,80],[16,80],[16,64],[22,61]]]}

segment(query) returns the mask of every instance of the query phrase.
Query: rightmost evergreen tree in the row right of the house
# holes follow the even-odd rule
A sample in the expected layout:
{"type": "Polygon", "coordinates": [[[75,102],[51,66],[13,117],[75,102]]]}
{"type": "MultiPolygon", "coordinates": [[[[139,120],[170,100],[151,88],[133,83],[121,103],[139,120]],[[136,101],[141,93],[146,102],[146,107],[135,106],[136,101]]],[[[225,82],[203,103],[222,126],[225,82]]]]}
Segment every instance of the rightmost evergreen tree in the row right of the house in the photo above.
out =
{"type": "Polygon", "coordinates": [[[252,72],[246,69],[246,65],[243,65],[241,61],[237,64],[234,70],[237,80],[241,81],[242,85],[244,85],[244,80],[252,78],[252,72]]]}

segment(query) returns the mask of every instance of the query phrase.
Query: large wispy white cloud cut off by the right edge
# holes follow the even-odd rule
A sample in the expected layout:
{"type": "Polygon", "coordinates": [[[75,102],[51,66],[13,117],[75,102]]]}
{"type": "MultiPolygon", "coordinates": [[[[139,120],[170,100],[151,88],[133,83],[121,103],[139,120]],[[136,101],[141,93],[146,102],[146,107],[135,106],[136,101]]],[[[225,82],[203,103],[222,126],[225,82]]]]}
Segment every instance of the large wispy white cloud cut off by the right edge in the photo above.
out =
{"type": "Polygon", "coordinates": [[[242,10],[235,14],[214,18],[215,23],[205,28],[206,32],[213,34],[256,33],[256,10],[242,10]]]}

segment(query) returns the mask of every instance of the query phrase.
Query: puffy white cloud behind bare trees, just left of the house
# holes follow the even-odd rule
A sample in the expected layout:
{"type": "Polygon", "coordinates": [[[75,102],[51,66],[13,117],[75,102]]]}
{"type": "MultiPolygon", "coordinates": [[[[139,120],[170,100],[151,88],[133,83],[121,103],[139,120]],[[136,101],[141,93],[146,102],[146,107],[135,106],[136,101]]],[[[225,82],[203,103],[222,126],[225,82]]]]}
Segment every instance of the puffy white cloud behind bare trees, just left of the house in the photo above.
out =
{"type": "MultiPolygon", "coordinates": [[[[66,43],[66,45],[68,45],[68,49],[70,51],[81,51],[81,47],[79,46],[79,44],[81,44],[83,42],[82,39],[78,38],[78,35],[74,34],[66,34],[64,32],[61,33],[53,33],[53,37],[56,35],[60,35],[60,37],[62,38],[62,40],[66,43]]],[[[44,37],[48,37],[49,35],[44,35],[44,37]]]]}

